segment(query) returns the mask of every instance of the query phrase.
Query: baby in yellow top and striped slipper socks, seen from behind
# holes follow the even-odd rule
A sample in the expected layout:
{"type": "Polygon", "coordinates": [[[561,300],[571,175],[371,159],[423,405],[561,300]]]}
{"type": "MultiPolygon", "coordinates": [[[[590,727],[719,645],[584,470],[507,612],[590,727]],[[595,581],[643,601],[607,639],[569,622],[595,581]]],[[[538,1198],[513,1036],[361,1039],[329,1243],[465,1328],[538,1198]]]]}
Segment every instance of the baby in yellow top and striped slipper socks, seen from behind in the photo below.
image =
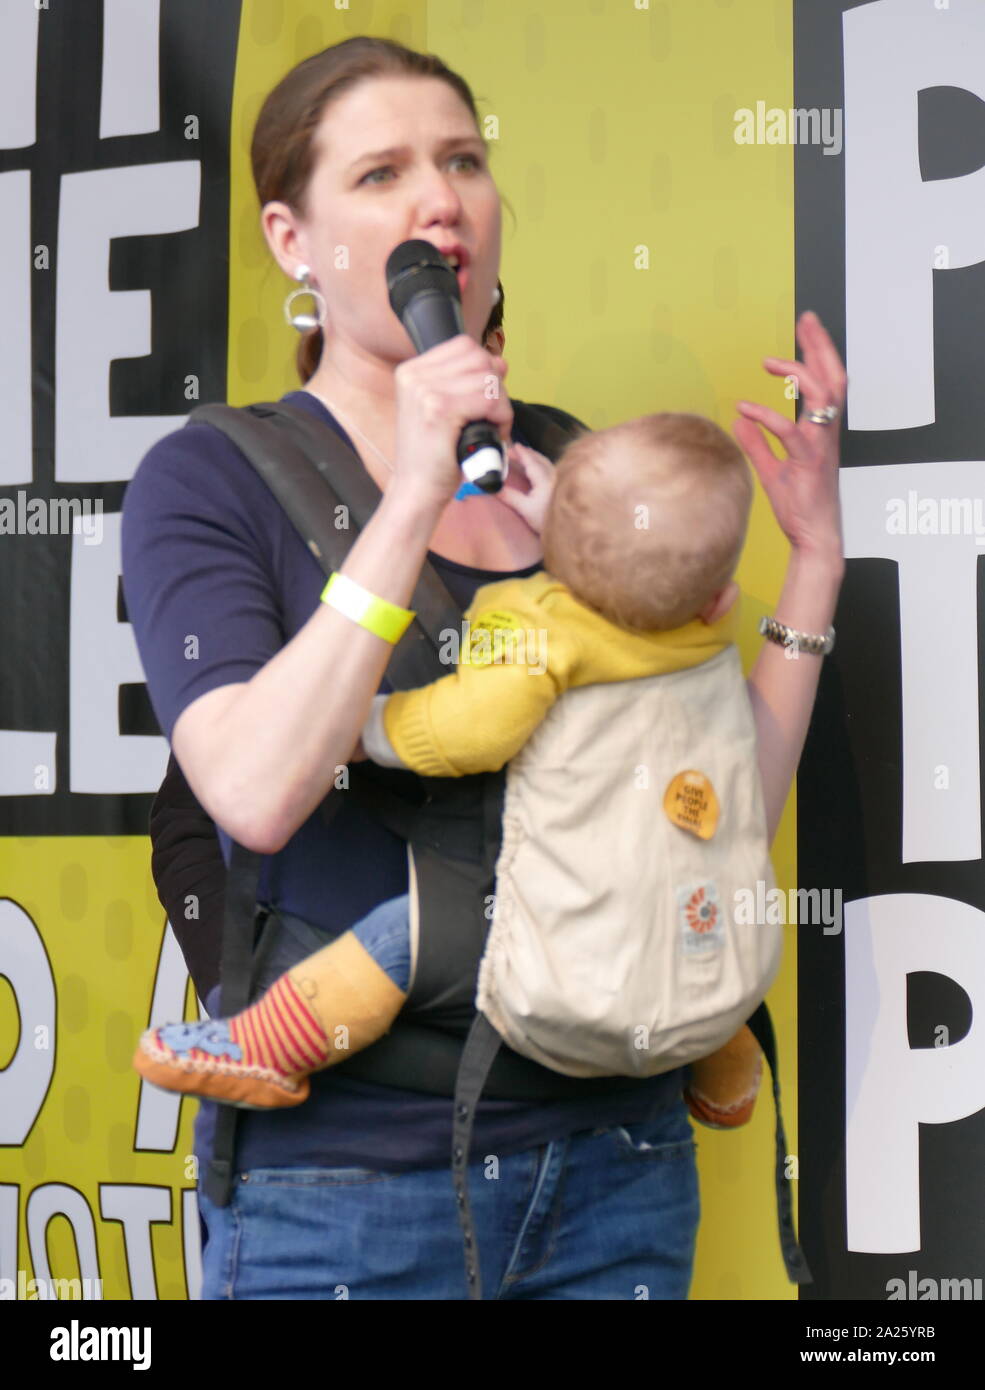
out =
{"type": "MultiPolygon", "coordinates": [[[[367,755],[421,776],[495,771],[565,689],[717,656],[735,635],[732,574],[752,491],[739,448],[699,416],[645,416],[572,441],[554,470],[545,570],[478,589],[454,671],[376,696],[363,730],[367,755]]],[[[297,1105],[311,1072],[389,1030],[410,972],[404,895],[235,1017],[149,1029],[133,1065],[171,1091],[246,1108],[297,1105]]],[[[761,1065],[752,1033],[739,1029],[692,1063],[690,1113],[713,1127],[746,1123],[761,1065]]]]}

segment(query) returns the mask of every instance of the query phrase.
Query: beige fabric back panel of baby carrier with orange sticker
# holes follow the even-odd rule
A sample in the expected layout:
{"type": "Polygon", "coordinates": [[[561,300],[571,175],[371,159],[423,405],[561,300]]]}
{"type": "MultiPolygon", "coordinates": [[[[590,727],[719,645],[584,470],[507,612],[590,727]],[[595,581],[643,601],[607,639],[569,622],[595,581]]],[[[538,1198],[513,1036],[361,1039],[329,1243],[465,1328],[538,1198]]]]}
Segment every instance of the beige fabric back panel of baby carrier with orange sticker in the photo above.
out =
{"type": "Polygon", "coordinates": [[[478,1008],[568,1076],[682,1066],[772,983],[781,929],[736,922],[772,887],[734,646],[567,691],[508,764],[478,1008]]]}

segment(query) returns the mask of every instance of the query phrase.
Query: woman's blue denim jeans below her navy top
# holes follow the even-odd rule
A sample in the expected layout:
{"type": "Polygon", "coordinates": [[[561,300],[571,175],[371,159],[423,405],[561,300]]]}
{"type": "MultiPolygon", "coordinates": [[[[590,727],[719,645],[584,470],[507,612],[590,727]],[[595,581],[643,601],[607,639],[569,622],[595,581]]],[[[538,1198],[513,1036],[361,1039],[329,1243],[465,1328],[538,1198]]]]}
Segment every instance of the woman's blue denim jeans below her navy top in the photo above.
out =
{"type": "MultiPolygon", "coordinates": [[[[682,1101],[470,1166],[485,1298],[686,1298],[697,1233],[682,1101]]],[[[199,1193],[203,1300],[463,1300],[450,1168],[263,1168],[199,1193]]]]}

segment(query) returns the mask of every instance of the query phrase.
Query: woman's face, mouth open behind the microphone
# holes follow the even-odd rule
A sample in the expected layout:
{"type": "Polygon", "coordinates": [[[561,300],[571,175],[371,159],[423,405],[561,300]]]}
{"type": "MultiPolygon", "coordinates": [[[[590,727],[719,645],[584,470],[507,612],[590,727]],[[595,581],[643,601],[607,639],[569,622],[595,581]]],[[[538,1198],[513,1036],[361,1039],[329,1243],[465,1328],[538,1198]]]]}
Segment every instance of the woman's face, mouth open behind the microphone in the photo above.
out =
{"type": "Polygon", "coordinates": [[[297,260],[325,296],[329,343],[338,334],[376,357],[413,354],[385,277],[393,247],[413,238],[460,250],[465,332],[481,341],[499,275],[499,192],[475,122],[446,82],[372,78],[332,101],[296,225],[297,260]]]}

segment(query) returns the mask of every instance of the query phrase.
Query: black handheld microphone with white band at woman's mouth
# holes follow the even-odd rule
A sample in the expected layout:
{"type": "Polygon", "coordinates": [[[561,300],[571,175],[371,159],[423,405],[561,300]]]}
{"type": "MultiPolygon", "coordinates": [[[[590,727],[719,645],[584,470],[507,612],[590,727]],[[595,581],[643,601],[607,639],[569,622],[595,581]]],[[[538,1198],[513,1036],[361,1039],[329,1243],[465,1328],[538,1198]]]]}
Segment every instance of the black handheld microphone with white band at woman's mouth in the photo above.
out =
{"type": "MultiPolygon", "coordinates": [[[[427,352],[464,334],[461,293],[454,271],[431,242],[402,242],[386,261],[390,307],[417,350],[427,352]]],[[[456,498],[499,492],[508,463],[503,441],[488,420],[472,420],[458,435],[456,449],[465,482],[456,498]]]]}

